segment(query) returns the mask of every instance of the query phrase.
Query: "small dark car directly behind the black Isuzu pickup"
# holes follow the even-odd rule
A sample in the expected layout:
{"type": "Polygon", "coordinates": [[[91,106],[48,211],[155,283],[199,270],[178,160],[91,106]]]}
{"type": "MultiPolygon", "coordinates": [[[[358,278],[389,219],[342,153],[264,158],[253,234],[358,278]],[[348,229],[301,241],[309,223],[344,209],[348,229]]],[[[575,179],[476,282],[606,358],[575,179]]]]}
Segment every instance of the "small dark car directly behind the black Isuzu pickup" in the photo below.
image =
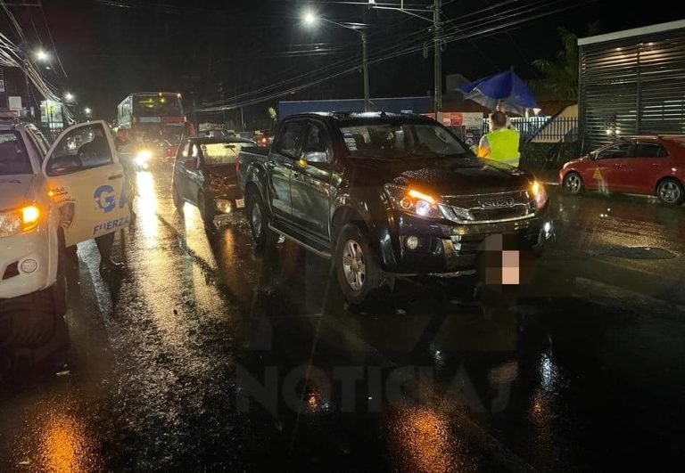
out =
{"type": "Polygon", "coordinates": [[[245,147],[257,146],[237,136],[186,139],[178,148],[171,184],[174,204],[180,210],[186,202],[197,206],[205,223],[218,213],[244,207],[238,188],[235,161],[245,147]]]}

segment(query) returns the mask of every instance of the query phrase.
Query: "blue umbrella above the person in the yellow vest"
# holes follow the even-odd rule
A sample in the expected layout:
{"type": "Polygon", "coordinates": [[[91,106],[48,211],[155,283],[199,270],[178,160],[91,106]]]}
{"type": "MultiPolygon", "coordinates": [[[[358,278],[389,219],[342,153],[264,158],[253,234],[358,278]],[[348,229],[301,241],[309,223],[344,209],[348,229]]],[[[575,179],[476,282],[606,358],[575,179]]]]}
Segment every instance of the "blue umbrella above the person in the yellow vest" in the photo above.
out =
{"type": "Polygon", "coordinates": [[[490,110],[494,110],[498,102],[502,102],[505,110],[519,115],[524,115],[526,109],[538,108],[531,91],[513,69],[469,82],[460,86],[459,90],[465,94],[465,99],[480,103],[490,110]]]}

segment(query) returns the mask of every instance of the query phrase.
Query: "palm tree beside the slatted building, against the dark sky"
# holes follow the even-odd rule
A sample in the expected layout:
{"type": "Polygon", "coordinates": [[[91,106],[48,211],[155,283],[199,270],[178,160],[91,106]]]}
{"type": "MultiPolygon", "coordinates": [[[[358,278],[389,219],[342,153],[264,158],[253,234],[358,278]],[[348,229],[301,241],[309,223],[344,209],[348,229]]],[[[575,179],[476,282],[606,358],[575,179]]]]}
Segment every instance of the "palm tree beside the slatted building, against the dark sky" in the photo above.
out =
{"type": "MultiPolygon", "coordinates": [[[[557,59],[536,59],[532,61],[532,67],[538,69],[546,77],[532,81],[531,88],[534,92],[549,95],[555,99],[578,98],[578,37],[565,28],[558,28],[564,49],[557,53],[557,59]]],[[[588,36],[597,35],[598,23],[588,25],[588,36]]]]}

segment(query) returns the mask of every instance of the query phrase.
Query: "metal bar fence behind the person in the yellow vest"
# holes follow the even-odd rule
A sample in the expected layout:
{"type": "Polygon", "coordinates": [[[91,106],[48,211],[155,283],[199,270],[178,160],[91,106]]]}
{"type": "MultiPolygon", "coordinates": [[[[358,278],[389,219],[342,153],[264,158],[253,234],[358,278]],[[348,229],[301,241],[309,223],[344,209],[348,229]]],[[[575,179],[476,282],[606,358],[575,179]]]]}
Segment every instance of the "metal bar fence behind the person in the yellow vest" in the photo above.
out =
{"type": "MultiPolygon", "coordinates": [[[[577,117],[511,118],[511,126],[521,134],[522,142],[575,143],[578,141],[577,117]]],[[[483,135],[490,131],[490,123],[483,119],[483,135]]]]}

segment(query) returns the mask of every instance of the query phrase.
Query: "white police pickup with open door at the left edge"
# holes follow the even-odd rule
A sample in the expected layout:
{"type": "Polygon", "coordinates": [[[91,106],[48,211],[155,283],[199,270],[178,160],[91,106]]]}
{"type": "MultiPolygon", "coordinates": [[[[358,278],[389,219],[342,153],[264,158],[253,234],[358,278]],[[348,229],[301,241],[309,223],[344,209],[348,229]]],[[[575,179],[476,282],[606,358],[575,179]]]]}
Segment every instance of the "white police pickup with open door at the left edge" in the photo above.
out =
{"type": "Polygon", "coordinates": [[[52,335],[66,312],[61,249],[128,225],[105,122],[71,126],[47,148],[34,125],[0,127],[0,347],[52,335]]]}

